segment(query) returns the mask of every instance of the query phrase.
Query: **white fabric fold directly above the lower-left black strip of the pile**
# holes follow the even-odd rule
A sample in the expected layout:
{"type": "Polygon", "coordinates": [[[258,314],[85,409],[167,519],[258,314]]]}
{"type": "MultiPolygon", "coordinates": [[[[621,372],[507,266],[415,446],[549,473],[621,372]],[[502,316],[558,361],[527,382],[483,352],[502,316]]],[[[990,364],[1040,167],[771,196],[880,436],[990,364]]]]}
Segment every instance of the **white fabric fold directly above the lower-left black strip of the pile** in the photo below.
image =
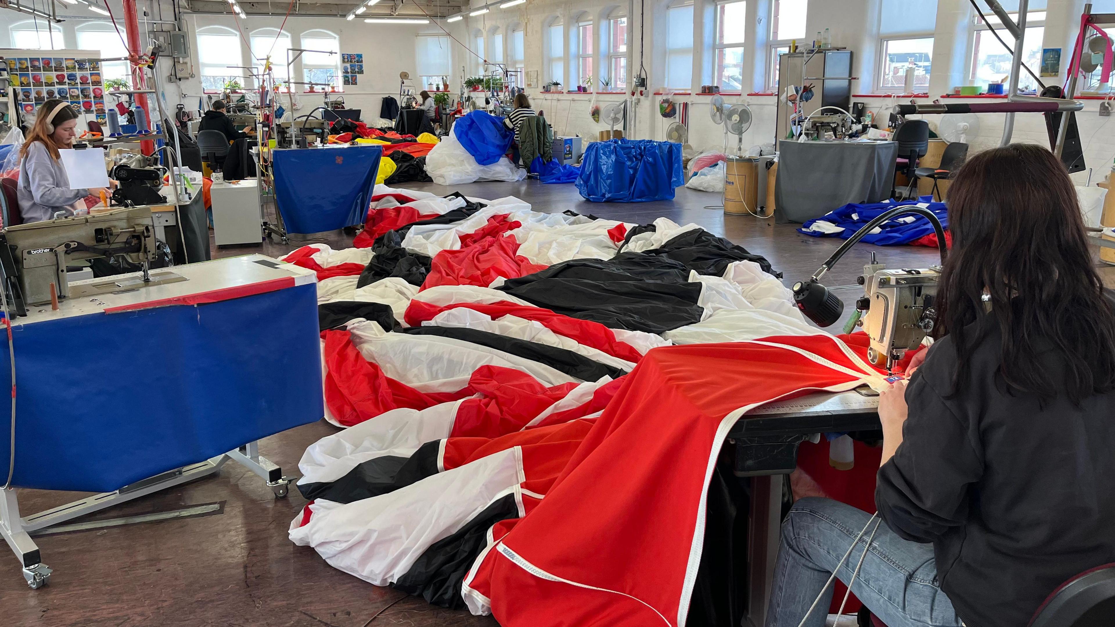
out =
{"type": "Polygon", "coordinates": [[[453,431],[460,401],[442,403],[425,409],[399,408],[327,435],[311,444],[298,462],[300,485],[337,481],[350,470],[374,457],[398,454],[409,457],[419,446],[445,440],[453,431]],[[401,453],[410,451],[410,453],[401,453]]]}

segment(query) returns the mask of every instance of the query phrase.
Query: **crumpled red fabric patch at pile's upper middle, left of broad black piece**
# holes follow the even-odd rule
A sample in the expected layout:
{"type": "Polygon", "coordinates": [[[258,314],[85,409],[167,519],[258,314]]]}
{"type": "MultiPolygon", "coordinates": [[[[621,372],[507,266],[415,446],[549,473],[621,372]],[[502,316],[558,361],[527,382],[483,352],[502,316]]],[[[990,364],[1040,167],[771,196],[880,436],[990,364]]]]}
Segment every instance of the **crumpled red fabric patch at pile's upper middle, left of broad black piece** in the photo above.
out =
{"type": "MultiPolygon", "coordinates": [[[[518,222],[511,224],[517,225],[518,222]]],[[[421,289],[434,286],[487,287],[500,277],[515,279],[546,269],[546,266],[536,266],[515,254],[517,251],[518,242],[511,235],[486,238],[460,250],[443,250],[434,255],[421,289]]]]}

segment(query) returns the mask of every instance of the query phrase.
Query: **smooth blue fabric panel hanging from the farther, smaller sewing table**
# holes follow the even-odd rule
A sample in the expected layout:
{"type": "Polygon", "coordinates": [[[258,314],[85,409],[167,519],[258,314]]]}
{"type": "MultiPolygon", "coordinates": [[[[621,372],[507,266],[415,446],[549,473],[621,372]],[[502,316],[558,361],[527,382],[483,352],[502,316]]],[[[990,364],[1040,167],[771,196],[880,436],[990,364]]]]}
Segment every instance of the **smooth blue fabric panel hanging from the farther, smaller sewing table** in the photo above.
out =
{"type": "Polygon", "coordinates": [[[275,200],[288,233],[363,224],[382,147],[281,149],[271,154],[275,200]]]}

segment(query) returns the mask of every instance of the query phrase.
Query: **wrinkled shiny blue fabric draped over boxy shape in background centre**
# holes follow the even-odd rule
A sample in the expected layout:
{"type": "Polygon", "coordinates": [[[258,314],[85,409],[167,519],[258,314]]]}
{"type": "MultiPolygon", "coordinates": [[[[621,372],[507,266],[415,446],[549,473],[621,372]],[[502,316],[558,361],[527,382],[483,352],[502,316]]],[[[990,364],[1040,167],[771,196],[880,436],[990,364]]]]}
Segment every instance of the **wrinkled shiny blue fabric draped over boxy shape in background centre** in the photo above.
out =
{"type": "Polygon", "coordinates": [[[620,138],[589,144],[576,190],[591,202],[666,201],[685,182],[681,144],[620,138]]]}

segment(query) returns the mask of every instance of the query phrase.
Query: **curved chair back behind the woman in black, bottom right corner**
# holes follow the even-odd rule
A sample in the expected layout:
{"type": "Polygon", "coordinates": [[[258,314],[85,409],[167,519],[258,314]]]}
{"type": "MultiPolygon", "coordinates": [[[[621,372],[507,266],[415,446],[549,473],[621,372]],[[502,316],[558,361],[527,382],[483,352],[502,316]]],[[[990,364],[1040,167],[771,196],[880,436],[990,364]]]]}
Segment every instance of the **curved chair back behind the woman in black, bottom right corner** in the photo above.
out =
{"type": "Polygon", "coordinates": [[[1061,583],[1049,595],[1029,627],[1106,627],[1115,617],[1115,563],[1107,563],[1061,583]]]}

